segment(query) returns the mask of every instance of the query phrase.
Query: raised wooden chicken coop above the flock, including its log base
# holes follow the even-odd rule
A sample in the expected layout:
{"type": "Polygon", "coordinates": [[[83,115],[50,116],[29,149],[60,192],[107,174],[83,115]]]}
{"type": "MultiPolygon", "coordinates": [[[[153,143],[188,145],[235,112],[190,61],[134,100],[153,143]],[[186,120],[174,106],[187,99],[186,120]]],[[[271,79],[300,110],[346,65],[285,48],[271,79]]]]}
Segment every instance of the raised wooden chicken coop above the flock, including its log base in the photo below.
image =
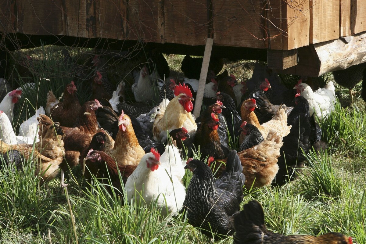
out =
{"type": "MultiPolygon", "coordinates": [[[[5,0],[1,59],[45,44],[265,60],[319,76],[366,61],[365,0],[5,0]]],[[[3,64],[1,64],[3,65],[3,64]]],[[[4,66],[4,65],[3,65],[4,66]]]]}

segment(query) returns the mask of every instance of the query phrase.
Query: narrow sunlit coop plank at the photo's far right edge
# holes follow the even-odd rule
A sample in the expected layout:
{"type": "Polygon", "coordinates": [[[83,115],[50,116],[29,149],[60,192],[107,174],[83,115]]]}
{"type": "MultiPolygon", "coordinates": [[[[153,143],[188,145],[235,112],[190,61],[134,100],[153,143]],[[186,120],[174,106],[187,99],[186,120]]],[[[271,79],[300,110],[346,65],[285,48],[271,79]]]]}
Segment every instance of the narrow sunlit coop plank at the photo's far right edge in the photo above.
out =
{"type": "Polygon", "coordinates": [[[366,3],[364,0],[351,0],[351,33],[366,31],[366,3]]]}

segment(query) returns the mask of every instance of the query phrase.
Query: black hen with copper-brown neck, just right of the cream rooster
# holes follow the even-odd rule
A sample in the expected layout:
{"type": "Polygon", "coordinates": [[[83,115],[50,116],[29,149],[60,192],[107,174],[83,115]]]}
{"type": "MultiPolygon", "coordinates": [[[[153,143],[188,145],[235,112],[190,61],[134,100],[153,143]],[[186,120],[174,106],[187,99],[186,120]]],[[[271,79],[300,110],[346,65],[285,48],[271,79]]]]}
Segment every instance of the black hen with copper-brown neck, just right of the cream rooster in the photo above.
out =
{"type": "Polygon", "coordinates": [[[201,118],[201,127],[198,129],[195,138],[195,148],[201,152],[201,159],[209,157],[226,158],[229,153],[228,142],[221,142],[219,137],[219,119],[215,113],[201,118]]]}

